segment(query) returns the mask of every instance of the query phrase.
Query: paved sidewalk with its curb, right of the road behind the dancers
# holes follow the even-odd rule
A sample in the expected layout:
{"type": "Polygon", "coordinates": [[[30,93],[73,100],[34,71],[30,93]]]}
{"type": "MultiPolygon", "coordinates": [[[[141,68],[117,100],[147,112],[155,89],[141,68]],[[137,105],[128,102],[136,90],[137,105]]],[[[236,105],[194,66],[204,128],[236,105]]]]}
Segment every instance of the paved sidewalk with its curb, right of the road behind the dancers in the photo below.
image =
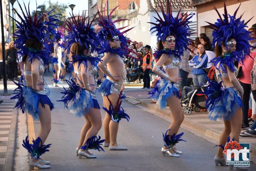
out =
{"type": "MultiPolygon", "coordinates": [[[[131,104],[140,105],[145,107],[147,110],[159,113],[161,116],[171,116],[169,108],[161,110],[156,104],[151,103],[151,99],[148,99],[148,91],[142,90],[140,92],[127,92],[125,93],[126,100],[131,104]]],[[[192,112],[190,115],[184,115],[185,119],[182,123],[189,129],[195,130],[203,136],[215,139],[218,141],[221,131],[224,128],[223,121],[210,121],[208,119],[207,112],[192,112]]],[[[170,117],[171,118],[171,117],[170,117]]],[[[241,137],[240,142],[250,143],[251,157],[256,159],[256,138],[255,137],[241,137]]]]}

